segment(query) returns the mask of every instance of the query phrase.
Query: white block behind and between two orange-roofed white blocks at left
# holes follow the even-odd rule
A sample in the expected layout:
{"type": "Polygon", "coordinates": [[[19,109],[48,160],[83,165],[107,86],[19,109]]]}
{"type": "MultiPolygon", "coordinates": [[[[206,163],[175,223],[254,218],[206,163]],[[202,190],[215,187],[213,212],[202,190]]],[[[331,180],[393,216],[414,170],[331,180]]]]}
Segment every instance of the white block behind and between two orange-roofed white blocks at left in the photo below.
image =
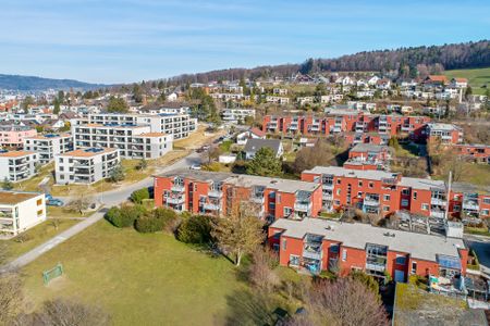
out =
{"type": "Polygon", "coordinates": [[[73,150],[73,138],[69,134],[47,134],[24,138],[24,150],[38,153],[39,163],[54,160],[54,155],[73,150]]]}

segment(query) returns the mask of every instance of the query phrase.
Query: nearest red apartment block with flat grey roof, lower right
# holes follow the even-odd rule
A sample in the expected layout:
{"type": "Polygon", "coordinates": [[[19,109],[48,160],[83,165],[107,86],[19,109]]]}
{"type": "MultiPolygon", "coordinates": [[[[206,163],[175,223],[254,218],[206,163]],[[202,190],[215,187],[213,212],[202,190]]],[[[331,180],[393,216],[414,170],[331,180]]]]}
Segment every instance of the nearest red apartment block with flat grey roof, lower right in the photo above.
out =
{"type": "Polygon", "coordinates": [[[395,281],[406,281],[413,274],[465,275],[468,259],[458,238],[321,218],[277,220],[269,227],[268,242],[283,266],[313,274],[360,269],[379,278],[388,274],[395,281]]]}

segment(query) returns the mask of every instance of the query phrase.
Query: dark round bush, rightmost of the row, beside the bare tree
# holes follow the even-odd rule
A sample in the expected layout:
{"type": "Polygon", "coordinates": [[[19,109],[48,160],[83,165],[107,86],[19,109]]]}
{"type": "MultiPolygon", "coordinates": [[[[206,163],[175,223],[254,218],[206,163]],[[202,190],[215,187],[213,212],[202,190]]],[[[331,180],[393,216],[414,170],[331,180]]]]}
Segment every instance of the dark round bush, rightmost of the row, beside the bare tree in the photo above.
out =
{"type": "Polygon", "coordinates": [[[193,215],[184,220],[179,226],[179,241],[199,244],[211,241],[211,218],[209,216],[193,215]]]}

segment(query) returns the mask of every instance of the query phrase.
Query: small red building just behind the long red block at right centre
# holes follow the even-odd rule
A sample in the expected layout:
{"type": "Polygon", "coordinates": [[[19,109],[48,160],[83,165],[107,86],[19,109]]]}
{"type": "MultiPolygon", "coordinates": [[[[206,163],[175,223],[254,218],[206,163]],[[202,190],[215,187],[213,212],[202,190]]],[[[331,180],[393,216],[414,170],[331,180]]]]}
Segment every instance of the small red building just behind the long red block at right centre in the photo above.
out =
{"type": "Polygon", "coordinates": [[[388,146],[357,143],[348,151],[345,168],[388,170],[390,148],[388,146]]]}

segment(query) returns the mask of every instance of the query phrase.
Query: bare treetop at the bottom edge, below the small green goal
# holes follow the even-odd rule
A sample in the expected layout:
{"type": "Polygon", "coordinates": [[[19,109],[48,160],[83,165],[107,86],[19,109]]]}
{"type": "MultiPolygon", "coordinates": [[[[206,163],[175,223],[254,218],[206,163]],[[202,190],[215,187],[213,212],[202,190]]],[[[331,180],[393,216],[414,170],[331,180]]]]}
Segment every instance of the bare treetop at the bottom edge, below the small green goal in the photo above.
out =
{"type": "Polygon", "coordinates": [[[105,326],[110,325],[111,317],[97,305],[88,305],[69,299],[53,299],[44,302],[40,313],[37,313],[35,325],[76,325],[105,326]]]}

